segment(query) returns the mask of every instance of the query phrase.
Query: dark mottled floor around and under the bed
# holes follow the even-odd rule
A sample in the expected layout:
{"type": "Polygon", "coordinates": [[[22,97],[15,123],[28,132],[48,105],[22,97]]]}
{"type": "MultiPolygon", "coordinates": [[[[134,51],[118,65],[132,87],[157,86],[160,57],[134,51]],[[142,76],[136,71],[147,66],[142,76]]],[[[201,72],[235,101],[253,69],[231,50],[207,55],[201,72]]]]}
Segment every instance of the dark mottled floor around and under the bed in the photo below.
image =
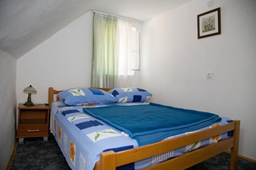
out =
{"type": "MultiPolygon", "coordinates": [[[[256,163],[239,158],[239,170],[256,170],[256,163]]],[[[187,170],[224,170],[229,167],[229,154],[222,153],[187,170]]],[[[48,141],[42,138],[24,139],[18,144],[11,169],[70,169],[58,144],[51,135],[48,141]]]]}

